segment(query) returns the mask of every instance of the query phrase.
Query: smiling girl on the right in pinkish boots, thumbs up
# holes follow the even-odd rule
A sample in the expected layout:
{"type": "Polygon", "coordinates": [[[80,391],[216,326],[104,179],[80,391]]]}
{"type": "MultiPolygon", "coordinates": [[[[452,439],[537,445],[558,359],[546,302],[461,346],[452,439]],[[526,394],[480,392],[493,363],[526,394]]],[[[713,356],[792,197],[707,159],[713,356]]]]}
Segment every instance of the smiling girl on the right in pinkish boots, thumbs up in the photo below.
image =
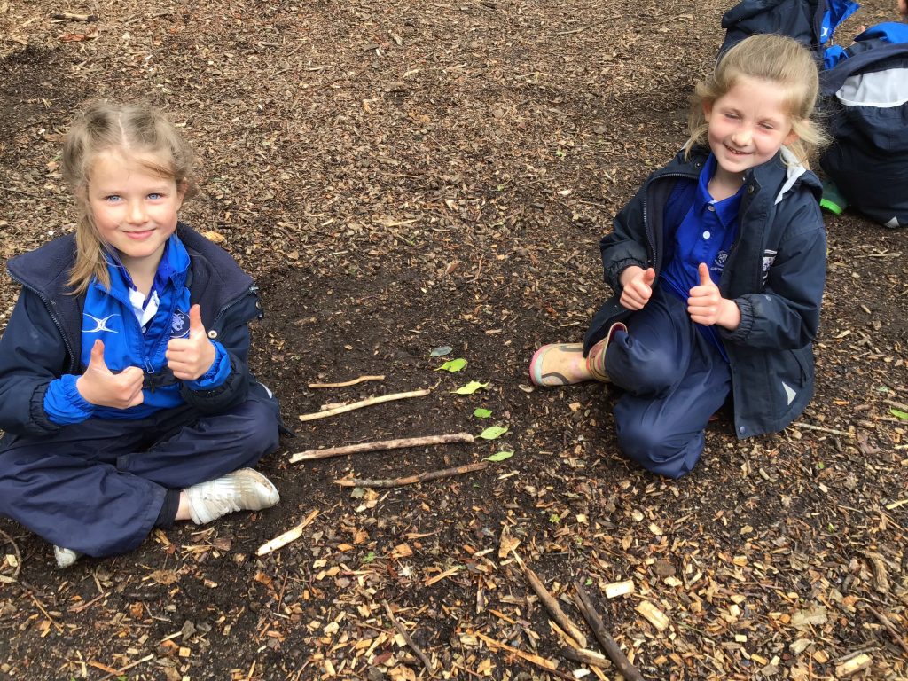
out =
{"type": "Polygon", "coordinates": [[[818,78],[791,38],[753,35],[696,87],[685,148],[600,242],[615,295],[583,344],[540,348],[537,385],[610,380],[618,444],[678,478],[732,397],[735,434],[784,429],[811,399],[825,276],[818,78]]]}

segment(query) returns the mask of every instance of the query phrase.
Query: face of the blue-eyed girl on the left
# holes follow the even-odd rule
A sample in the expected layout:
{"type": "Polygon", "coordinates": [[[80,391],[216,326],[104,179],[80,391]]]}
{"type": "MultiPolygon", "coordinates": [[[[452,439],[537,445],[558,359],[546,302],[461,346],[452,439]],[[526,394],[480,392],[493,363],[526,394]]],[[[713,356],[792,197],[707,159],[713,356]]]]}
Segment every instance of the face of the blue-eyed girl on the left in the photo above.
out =
{"type": "Polygon", "coordinates": [[[88,205],[98,234],[130,271],[157,268],[185,194],[173,179],[144,168],[143,161],[166,165],[154,154],[128,158],[107,151],[98,154],[88,175],[88,205]]]}

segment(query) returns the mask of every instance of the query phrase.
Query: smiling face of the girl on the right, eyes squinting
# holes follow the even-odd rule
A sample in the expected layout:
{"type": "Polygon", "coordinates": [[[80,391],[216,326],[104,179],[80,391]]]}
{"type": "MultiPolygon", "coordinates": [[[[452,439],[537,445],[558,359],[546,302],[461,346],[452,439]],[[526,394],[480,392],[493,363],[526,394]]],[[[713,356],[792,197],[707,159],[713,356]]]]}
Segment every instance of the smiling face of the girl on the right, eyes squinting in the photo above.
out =
{"type": "Polygon", "coordinates": [[[785,91],[770,81],[741,76],[715,102],[704,103],[703,111],[716,173],[736,176],[738,182],[748,168],[769,161],[783,144],[797,139],[785,91]]]}

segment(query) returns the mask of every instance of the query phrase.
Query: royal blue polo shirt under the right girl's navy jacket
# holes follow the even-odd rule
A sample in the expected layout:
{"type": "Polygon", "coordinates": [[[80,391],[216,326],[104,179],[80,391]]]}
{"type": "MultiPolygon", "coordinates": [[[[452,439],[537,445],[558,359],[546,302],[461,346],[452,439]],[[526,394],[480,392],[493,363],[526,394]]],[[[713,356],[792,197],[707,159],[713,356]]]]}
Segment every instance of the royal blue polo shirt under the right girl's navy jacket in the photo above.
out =
{"type": "MultiPolygon", "coordinates": [[[[710,278],[719,283],[737,235],[744,184],[734,196],[716,201],[707,189],[714,173],[716,157],[710,154],[696,185],[678,183],[666,202],[666,232],[669,235],[674,232],[674,237],[669,236],[673,240],[673,256],[659,279],[685,303],[690,290],[700,284],[701,262],[706,262],[710,278]]],[[[702,324],[697,327],[727,361],[716,329],[702,324]]]]}

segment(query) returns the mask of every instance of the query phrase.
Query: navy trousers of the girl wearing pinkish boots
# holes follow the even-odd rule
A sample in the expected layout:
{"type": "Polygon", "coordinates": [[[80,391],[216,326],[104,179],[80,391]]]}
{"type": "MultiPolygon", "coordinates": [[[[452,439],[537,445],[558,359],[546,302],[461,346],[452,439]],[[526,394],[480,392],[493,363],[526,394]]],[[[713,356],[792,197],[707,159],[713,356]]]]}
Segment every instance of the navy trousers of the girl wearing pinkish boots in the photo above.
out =
{"type": "Polygon", "coordinates": [[[645,469],[680,478],[700,459],[731,371],[690,321],[686,302],[662,286],[626,323],[606,353],[609,379],[626,390],[614,409],[618,445],[645,469]]]}

